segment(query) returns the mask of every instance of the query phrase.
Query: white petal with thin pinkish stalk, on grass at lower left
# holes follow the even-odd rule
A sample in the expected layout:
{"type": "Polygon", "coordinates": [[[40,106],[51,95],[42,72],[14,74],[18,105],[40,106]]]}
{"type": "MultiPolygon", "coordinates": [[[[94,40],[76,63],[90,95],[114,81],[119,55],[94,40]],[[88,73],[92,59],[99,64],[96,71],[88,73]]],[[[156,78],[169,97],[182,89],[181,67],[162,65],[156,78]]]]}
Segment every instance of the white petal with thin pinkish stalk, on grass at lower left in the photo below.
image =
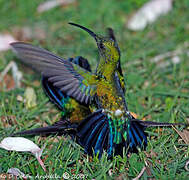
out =
{"type": "Polygon", "coordinates": [[[8,151],[31,152],[37,158],[43,170],[46,171],[44,163],[41,160],[41,155],[44,148],[40,149],[31,140],[23,137],[7,137],[1,141],[0,148],[8,151]]]}

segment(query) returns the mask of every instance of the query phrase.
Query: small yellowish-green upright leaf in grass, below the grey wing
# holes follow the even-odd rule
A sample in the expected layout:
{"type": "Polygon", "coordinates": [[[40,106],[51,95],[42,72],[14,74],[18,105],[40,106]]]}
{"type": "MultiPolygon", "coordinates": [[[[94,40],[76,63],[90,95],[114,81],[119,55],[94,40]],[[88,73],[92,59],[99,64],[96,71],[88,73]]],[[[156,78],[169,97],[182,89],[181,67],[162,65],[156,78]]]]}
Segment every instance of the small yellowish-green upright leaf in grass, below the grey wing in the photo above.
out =
{"type": "Polygon", "coordinates": [[[36,103],[36,94],[33,88],[27,87],[24,93],[26,99],[26,108],[30,109],[37,105],[36,103]]]}

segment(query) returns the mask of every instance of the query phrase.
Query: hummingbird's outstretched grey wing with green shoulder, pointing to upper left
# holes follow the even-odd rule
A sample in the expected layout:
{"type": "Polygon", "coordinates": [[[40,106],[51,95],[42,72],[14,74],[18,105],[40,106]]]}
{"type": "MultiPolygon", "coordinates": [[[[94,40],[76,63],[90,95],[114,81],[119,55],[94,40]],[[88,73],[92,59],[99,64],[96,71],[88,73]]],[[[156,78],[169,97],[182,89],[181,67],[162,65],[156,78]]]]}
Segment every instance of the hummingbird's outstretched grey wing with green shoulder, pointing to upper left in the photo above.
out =
{"type": "Polygon", "coordinates": [[[41,72],[55,87],[80,103],[88,104],[96,92],[94,74],[53,53],[23,42],[11,44],[24,63],[41,72]]]}

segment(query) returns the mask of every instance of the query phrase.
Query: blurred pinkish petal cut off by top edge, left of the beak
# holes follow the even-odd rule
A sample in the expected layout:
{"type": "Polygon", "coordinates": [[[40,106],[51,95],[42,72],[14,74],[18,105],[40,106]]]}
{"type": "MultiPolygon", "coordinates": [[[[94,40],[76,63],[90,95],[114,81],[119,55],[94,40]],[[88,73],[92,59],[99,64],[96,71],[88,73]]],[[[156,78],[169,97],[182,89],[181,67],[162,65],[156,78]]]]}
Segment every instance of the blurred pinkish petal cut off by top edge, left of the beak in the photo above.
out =
{"type": "Polygon", "coordinates": [[[37,12],[41,13],[44,11],[48,11],[52,8],[55,8],[57,6],[67,5],[73,2],[75,2],[75,0],[49,0],[44,3],[41,3],[37,8],[37,12]]]}

